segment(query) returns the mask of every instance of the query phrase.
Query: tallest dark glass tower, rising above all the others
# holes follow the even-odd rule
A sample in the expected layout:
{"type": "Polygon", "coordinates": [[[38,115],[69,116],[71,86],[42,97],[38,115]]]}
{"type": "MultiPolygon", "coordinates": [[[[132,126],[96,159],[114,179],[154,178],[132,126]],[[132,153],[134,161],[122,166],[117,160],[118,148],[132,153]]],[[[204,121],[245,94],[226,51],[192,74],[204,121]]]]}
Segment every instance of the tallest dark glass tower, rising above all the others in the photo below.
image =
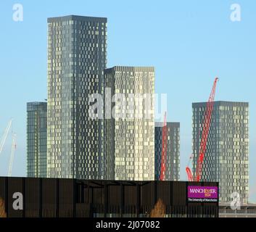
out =
{"type": "Polygon", "coordinates": [[[104,94],[107,18],[48,19],[47,176],[104,179],[103,120],[89,117],[104,94]]]}

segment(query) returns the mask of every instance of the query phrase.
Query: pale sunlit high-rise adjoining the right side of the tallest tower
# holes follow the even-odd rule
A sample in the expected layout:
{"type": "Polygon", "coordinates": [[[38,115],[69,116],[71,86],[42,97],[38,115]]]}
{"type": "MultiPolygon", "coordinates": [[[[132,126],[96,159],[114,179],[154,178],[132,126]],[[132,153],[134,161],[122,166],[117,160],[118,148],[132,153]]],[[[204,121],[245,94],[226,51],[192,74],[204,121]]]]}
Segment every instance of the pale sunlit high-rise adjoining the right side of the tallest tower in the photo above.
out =
{"type": "Polygon", "coordinates": [[[106,114],[112,112],[106,119],[108,178],[154,180],[154,67],[112,67],[105,86],[112,98],[106,104],[106,114]]]}

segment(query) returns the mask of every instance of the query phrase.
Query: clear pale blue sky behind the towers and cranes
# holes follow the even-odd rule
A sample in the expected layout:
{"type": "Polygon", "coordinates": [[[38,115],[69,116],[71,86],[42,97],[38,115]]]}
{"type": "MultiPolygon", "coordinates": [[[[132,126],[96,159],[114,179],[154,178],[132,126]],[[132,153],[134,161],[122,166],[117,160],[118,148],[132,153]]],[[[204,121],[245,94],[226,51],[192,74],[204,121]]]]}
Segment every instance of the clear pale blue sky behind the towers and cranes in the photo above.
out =
{"type": "MultiPolygon", "coordinates": [[[[250,199],[256,202],[256,1],[0,1],[0,133],[13,117],[13,175],[25,176],[26,102],[46,94],[47,17],[107,17],[107,66],[154,66],[156,92],[168,94],[168,120],[181,122],[181,178],[191,154],[191,103],[249,101],[250,199]],[[23,6],[23,21],[12,6],[23,6]],[[240,4],[241,22],[230,20],[240,4]]],[[[7,175],[11,136],[0,156],[7,175]]]]}

